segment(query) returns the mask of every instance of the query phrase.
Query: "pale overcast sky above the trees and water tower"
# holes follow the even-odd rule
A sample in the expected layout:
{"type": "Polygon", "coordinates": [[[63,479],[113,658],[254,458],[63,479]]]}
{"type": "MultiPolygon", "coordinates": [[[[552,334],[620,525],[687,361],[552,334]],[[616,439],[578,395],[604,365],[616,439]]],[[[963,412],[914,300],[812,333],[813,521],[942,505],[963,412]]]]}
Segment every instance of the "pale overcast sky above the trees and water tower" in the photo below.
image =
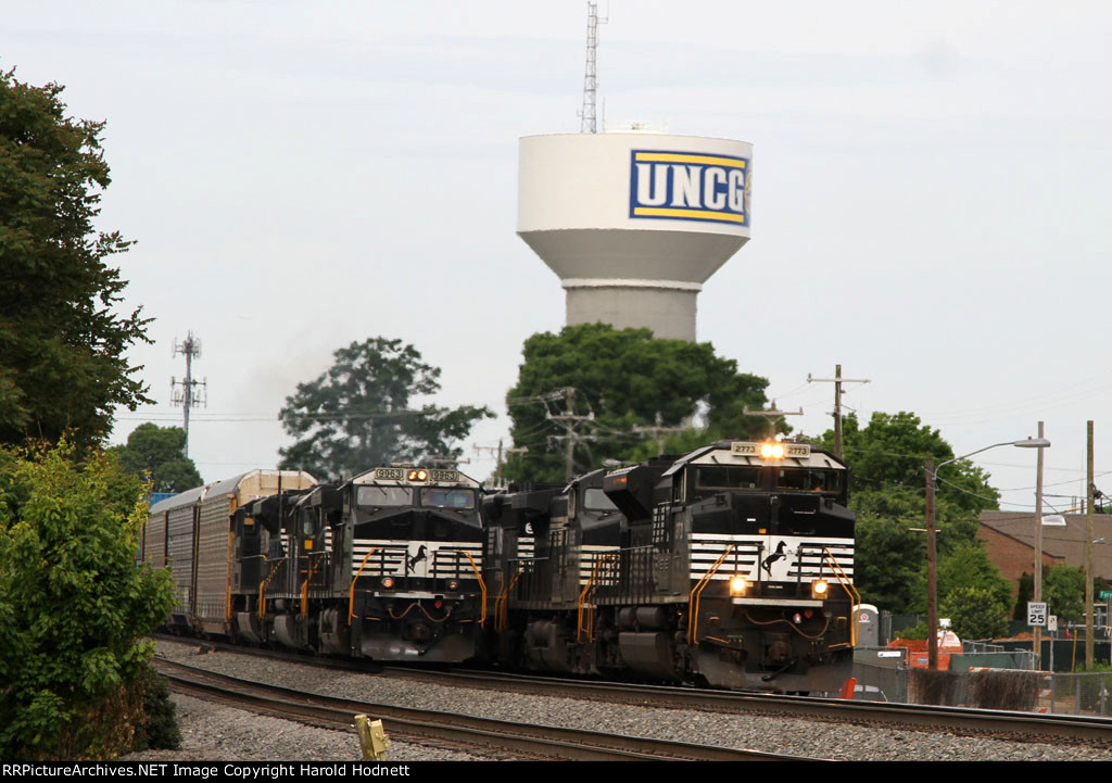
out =
{"type": "MultiPolygon", "coordinates": [[[[439,405],[508,445],[522,344],[564,291],[516,237],[517,142],[577,132],[586,2],[9,0],[0,67],[105,120],[99,227],[129,358],[157,400],[111,435],[181,423],[189,331],[206,480],[274,467],[277,419],[332,351],[400,338],[443,369],[439,405]]],[[[608,122],[754,145],[752,239],[704,286],[698,339],[768,379],[803,433],[843,402],[911,410],[966,454],[1045,422],[1048,512],[1083,493],[1085,423],[1112,493],[1104,356],[1112,242],[1112,4],[604,1],[608,122]],[[1072,303],[1072,304],[1071,304],[1072,303]]],[[[1035,452],[975,463],[1034,507],[1035,452]]]]}

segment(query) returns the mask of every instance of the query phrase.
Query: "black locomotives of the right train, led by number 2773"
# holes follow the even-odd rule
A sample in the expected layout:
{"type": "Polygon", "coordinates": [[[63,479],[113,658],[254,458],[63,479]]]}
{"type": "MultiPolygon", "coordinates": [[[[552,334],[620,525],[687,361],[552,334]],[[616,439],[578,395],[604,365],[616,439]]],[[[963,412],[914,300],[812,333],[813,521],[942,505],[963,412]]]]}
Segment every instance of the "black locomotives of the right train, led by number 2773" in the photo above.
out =
{"type": "Polygon", "coordinates": [[[494,496],[487,511],[507,662],[791,692],[850,676],[854,521],[828,454],[719,442],[564,492],[494,496]],[[507,545],[527,531],[533,557],[507,545]],[[588,531],[605,531],[597,548],[588,531]]]}

